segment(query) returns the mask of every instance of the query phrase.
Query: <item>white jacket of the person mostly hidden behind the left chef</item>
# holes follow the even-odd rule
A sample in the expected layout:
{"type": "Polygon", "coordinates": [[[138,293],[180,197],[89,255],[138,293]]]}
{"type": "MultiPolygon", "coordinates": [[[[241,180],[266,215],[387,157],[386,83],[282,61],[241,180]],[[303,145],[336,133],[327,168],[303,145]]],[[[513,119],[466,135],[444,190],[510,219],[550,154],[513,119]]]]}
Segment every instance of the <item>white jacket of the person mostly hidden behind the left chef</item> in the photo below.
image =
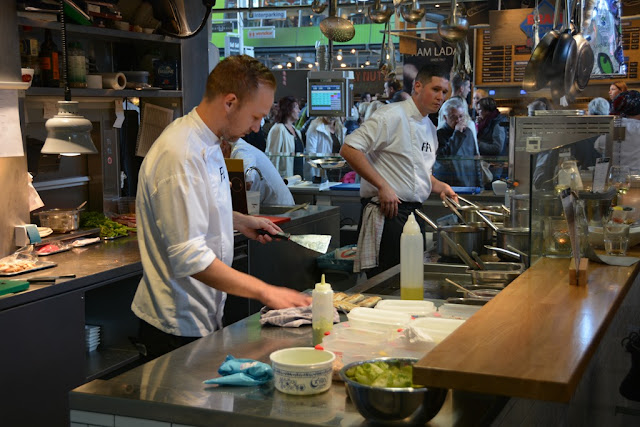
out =
{"type": "Polygon", "coordinates": [[[271,163],[271,160],[260,150],[246,141],[239,139],[233,143],[231,150],[232,159],[242,159],[245,174],[249,168],[257,168],[262,174],[251,169],[246,176],[248,182],[252,182],[251,191],[260,192],[261,205],[293,206],[293,196],[284,183],[284,180],[271,163]]]}

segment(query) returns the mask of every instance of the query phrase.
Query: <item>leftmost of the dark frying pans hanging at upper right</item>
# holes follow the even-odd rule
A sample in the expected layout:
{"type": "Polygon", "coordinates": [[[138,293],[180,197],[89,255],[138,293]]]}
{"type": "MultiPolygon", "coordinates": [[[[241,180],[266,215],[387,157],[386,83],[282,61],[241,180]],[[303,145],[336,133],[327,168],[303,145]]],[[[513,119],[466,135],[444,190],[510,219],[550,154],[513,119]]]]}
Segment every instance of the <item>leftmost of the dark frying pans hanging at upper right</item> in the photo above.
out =
{"type": "Polygon", "coordinates": [[[540,90],[549,84],[550,73],[548,67],[551,65],[553,51],[558,43],[560,32],[558,27],[558,9],[560,0],[556,0],[556,13],[553,16],[553,29],[542,37],[540,43],[531,53],[531,58],[524,69],[523,89],[527,91],[540,90]]]}

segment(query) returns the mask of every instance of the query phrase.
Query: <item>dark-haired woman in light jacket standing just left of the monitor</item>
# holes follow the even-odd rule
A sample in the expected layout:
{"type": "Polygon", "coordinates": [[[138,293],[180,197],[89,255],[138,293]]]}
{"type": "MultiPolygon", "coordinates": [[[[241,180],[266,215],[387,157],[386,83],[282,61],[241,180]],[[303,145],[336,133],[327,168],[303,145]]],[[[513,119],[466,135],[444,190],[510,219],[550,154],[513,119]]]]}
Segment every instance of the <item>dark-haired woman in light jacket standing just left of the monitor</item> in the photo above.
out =
{"type": "Polygon", "coordinates": [[[302,157],[295,159],[286,157],[293,153],[302,154],[304,152],[302,135],[294,126],[299,115],[300,107],[293,96],[281,98],[275,117],[276,124],[273,125],[267,136],[266,153],[272,155],[271,162],[282,177],[302,176],[303,174],[304,159],[302,157]]]}

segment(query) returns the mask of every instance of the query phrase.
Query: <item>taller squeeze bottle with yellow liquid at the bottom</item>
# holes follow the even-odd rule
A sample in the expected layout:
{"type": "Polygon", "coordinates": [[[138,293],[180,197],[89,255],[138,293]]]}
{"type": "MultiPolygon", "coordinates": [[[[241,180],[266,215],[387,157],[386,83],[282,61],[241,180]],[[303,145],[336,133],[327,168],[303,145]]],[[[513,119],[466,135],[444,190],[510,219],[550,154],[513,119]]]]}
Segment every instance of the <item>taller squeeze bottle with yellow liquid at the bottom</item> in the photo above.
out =
{"type": "Polygon", "coordinates": [[[402,229],[400,237],[400,298],[424,299],[424,240],[413,213],[402,229]]]}

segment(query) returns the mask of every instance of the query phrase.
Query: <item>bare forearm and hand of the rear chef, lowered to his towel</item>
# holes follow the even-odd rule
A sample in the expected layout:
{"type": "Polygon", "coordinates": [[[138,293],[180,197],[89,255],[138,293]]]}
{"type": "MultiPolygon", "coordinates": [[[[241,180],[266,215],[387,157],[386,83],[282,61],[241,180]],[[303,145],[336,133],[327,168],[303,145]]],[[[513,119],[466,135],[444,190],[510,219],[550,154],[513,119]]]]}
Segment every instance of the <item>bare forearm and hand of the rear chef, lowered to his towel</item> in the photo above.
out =
{"type": "Polygon", "coordinates": [[[382,213],[387,218],[395,217],[398,214],[400,199],[389,183],[371,166],[367,156],[362,151],[347,144],[343,144],[342,148],[340,148],[340,155],[353,170],[378,189],[378,199],[380,199],[382,213]]]}

